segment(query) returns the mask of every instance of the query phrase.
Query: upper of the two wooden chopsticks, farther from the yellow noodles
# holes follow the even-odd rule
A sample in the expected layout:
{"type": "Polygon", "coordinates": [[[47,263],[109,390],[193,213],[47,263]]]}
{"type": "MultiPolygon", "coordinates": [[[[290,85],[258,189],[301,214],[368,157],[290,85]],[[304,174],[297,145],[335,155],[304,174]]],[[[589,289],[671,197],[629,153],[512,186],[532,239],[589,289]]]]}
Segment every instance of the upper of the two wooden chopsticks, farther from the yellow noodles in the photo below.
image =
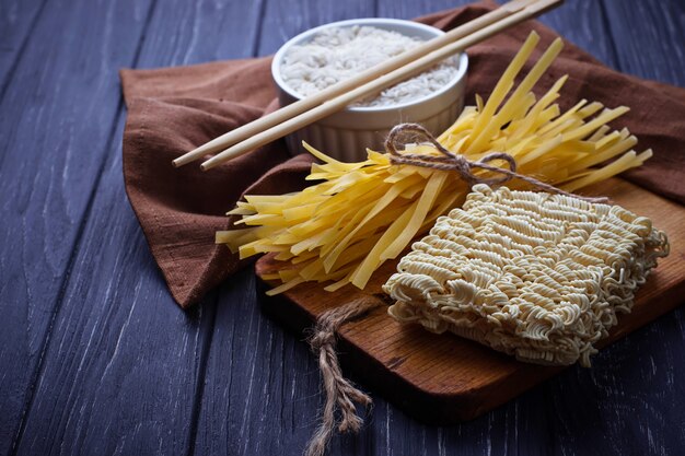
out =
{"type": "Polygon", "coordinates": [[[394,71],[397,68],[400,68],[411,61],[425,56],[429,52],[432,52],[436,49],[441,48],[442,46],[452,43],[458,38],[463,38],[486,25],[492,24],[497,21],[500,21],[508,15],[515,13],[524,9],[525,7],[537,2],[538,0],[513,0],[509,3],[506,3],[499,7],[496,10],[490,11],[487,14],[484,14],[473,21],[467,22],[444,35],[436,37],[426,42],[425,44],[417,46],[413,49],[409,49],[400,55],[388,59],[384,62],[381,62],[361,73],[356,75],[355,78],[350,78],[345,81],[340,81],[335,85],[332,85],[316,94],[304,97],[295,103],[292,103],[288,106],[285,106],[267,116],[264,116],[255,121],[246,124],[242,127],[239,127],[234,130],[229,131],[193,151],[177,157],[172,163],[174,166],[183,166],[187,163],[194,162],[198,159],[201,159],[204,155],[214,153],[218,151],[222,151],[230,145],[233,145],[240,141],[244,141],[245,139],[253,137],[267,128],[271,128],[281,124],[299,114],[302,114],[315,106],[321,105],[322,103],[333,100],[334,97],[344,94],[345,92],[349,92],[352,89],[358,87],[369,81],[376,79],[381,74],[385,74],[390,71],[394,71]]]}

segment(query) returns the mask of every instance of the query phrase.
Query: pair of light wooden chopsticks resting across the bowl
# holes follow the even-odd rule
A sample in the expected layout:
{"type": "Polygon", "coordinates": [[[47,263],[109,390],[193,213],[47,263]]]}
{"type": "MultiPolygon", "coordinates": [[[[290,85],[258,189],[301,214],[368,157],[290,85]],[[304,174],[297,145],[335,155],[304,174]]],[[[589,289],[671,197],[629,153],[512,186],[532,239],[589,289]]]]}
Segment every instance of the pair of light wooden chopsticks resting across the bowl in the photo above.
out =
{"type": "Polygon", "coordinates": [[[350,103],[378,93],[439,61],[463,51],[501,31],[561,4],[564,0],[513,0],[449,33],[372,67],[355,78],[285,106],[255,121],[222,135],[174,160],[183,166],[217,153],[200,165],[202,171],[241,156],[304,126],[341,110],[350,103]]]}

